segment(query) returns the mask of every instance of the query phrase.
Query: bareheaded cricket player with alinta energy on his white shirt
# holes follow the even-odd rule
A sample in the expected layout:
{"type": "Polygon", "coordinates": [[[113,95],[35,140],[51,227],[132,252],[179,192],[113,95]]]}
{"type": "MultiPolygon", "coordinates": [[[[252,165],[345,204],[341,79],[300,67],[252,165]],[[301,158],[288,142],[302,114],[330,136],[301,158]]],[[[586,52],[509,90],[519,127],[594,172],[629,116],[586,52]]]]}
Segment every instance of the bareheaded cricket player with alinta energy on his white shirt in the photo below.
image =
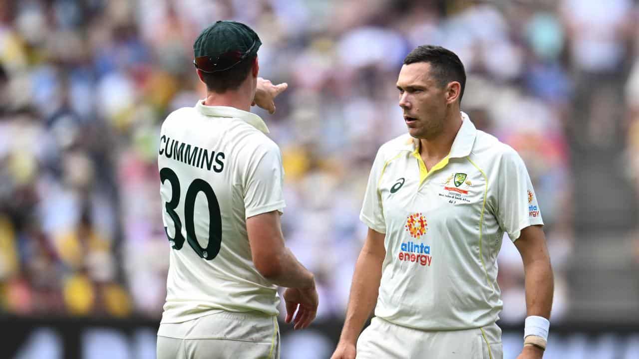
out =
{"type": "Polygon", "coordinates": [[[553,274],[539,204],[518,153],[460,111],[465,82],[458,56],[442,47],[404,59],[397,89],[408,134],[374,160],[360,214],[369,230],[333,359],[501,359],[504,233],[526,276],[518,358],[543,356],[553,274]]]}

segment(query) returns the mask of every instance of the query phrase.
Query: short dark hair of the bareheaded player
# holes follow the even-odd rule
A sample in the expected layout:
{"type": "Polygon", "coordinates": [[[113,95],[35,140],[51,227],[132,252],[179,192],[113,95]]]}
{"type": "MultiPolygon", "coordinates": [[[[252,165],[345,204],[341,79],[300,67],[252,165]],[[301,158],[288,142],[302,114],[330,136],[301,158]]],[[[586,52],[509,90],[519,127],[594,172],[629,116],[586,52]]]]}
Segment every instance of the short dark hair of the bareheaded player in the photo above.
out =
{"type": "Polygon", "coordinates": [[[404,59],[404,65],[412,63],[431,64],[431,73],[438,80],[440,86],[446,86],[452,81],[459,82],[461,85],[459,102],[461,102],[466,87],[466,70],[454,52],[441,46],[421,45],[412,50],[404,59]]]}

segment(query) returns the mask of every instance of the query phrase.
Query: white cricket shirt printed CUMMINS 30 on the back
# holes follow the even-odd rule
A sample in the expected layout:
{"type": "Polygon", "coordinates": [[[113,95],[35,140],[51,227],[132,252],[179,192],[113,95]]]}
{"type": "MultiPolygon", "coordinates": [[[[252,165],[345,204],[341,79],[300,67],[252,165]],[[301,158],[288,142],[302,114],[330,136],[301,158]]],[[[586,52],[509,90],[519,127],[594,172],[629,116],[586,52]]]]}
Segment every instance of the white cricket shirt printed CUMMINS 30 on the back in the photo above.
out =
{"type": "Polygon", "coordinates": [[[277,315],[276,286],[256,270],[246,218],[282,211],[279,147],[259,116],[233,107],[172,112],[162,124],[162,219],[172,247],[162,323],[219,310],[277,315]]]}

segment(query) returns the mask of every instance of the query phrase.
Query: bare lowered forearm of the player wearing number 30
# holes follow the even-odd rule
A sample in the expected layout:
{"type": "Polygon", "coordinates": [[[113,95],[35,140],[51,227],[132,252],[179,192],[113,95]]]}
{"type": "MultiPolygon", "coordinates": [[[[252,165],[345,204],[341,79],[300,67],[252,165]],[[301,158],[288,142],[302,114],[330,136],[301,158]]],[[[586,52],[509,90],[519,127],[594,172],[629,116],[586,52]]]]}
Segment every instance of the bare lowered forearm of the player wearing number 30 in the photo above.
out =
{"type": "Polygon", "coordinates": [[[304,268],[289,248],[283,248],[282,253],[277,258],[279,263],[274,266],[271,273],[266,273],[266,279],[277,286],[289,288],[311,288],[315,286],[315,279],[312,273],[304,268]]]}

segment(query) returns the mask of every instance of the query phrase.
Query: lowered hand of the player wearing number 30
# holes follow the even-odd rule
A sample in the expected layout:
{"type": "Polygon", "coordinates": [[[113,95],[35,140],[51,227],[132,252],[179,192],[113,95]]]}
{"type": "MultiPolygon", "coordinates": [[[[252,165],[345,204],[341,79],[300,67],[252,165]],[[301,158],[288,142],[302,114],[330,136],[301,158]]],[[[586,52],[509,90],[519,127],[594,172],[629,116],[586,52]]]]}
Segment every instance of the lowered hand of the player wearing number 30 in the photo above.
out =
{"type": "Polygon", "coordinates": [[[286,303],[286,323],[293,321],[293,329],[304,329],[311,325],[318,312],[318,292],[315,286],[307,289],[286,288],[284,291],[286,303]],[[297,310],[297,314],[295,314],[297,310]],[[295,314],[295,319],[293,319],[295,314]]]}

